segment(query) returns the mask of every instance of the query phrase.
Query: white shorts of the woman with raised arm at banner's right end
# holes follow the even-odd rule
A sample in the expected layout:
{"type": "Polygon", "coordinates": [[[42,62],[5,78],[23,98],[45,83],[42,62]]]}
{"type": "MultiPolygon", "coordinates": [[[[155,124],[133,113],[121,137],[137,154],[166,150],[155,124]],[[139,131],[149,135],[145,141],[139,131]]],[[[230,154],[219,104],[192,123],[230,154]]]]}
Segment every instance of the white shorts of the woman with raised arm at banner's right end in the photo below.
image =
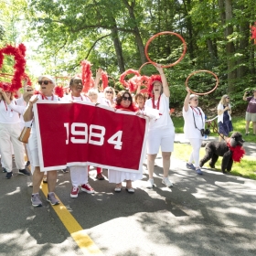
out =
{"type": "Polygon", "coordinates": [[[147,154],[155,155],[159,152],[173,152],[175,142],[175,130],[172,128],[155,129],[148,132],[147,154]]]}

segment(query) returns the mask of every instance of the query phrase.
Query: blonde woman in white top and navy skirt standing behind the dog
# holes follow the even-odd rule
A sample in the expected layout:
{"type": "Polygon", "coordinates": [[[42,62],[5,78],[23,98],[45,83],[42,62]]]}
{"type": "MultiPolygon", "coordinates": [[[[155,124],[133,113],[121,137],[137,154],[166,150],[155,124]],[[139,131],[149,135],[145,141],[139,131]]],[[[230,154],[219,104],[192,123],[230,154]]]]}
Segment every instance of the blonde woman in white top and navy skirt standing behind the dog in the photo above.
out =
{"type": "Polygon", "coordinates": [[[225,94],[221,97],[219,105],[217,107],[218,111],[218,126],[219,126],[219,142],[225,137],[229,137],[229,132],[233,131],[233,126],[231,123],[231,106],[230,106],[229,95],[225,94]]]}

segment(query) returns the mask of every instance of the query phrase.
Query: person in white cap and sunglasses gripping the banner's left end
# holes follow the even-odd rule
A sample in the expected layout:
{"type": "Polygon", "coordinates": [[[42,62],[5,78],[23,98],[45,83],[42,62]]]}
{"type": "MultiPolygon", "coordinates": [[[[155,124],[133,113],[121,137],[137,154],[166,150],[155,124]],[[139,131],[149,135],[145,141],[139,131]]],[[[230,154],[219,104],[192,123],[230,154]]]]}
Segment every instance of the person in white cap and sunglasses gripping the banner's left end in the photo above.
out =
{"type": "MultiPolygon", "coordinates": [[[[36,130],[36,123],[34,122],[34,111],[33,105],[37,100],[44,100],[44,101],[59,101],[59,98],[53,94],[53,90],[55,87],[55,80],[49,75],[43,75],[38,78],[38,83],[40,85],[39,93],[33,96],[27,104],[27,110],[24,113],[24,121],[30,122],[33,120],[32,129],[30,133],[30,137],[28,140],[29,148],[31,151],[31,157],[33,161],[33,165],[35,167],[33,173],[33,193],[31,196],[31,203],[33,207],[41,207],[42,201],[39,197],[39,188],[44,176],[44,172],[40,171],[39,165],[39,156],[38,156],[38,146],[37,146],[37,130],[36,130]]],[[[50,114],[50,113],[48,113],[50,114]]],[[[48,202],[55,206],[59,205],[59,200],[55,197],[55,187],[57,181],[57,170],[51,170],[47,172],[47,180],[48,180],[48,202]]]]}

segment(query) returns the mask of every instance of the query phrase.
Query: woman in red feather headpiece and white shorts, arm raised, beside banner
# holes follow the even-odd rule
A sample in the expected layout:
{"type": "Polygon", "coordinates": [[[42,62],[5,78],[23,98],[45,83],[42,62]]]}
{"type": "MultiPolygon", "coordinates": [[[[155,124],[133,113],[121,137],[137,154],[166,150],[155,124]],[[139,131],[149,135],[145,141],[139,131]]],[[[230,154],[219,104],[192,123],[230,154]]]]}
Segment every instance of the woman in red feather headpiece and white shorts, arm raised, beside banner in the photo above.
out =
{"type": "Polygon", "coordinates": [[[170,158],[174,151],[175,127],[169,115],[170,91],[165,77],[164,70],[156,64],[155,68],[160,73],[151,77],[149,94],[151,99],[145,101],[145,107],[157,109],[160,117],[157,120],[151,119],[147,139],[147,168],[149,179],[147,187],[154,187],[154,166],[155,157],[161,146],[163,156],[164,176],[162,183],[166,187],[173,187],[169,180],[170,158]]]}

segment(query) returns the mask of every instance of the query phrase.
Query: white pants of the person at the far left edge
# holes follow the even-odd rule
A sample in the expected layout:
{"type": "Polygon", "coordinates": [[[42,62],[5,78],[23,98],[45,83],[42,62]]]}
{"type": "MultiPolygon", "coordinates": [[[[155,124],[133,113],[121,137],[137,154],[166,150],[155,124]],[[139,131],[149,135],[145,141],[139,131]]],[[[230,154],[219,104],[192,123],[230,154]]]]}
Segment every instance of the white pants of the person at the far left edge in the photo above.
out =
{"type": "Polygon", "coordinates": [[[12,162],[12,146],[13,144],[16,167],[18,169],[25,169],[24,161],[24,146],[17,137],[20,135],[20,124],[19,123],[0,123],[0,147],[2,159],[7,172],[11,172],[13,169],[12,162]]]}

